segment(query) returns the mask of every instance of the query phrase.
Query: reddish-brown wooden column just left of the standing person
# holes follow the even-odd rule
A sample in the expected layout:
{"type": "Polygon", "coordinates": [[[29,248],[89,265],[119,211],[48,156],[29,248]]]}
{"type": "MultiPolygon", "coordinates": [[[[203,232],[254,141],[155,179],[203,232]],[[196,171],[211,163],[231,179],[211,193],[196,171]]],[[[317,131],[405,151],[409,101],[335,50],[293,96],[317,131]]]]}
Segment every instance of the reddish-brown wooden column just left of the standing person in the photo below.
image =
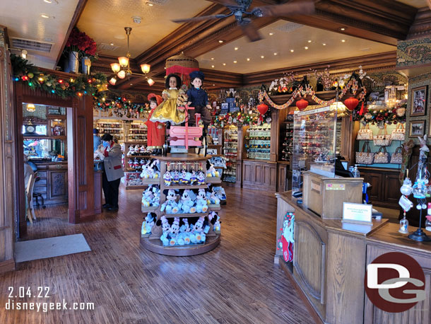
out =
{"type": "Polygon", "coordinates": [[[67,108],[69,223],[76,224],[95,215],[93,98],[74,98],[72,106],[67,108]]]}

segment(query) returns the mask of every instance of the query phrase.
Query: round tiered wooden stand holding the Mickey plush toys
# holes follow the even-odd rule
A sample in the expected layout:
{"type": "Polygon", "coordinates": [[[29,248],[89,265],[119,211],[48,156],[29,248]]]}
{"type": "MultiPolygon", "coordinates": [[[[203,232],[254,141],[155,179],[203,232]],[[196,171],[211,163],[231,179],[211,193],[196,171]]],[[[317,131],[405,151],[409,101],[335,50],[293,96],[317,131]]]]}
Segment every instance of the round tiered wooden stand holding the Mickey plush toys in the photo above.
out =
{"type": "MultiPolygon", "coordinates": [[[[204,185],[165,185],[165,181],[163,180],[163,175],[167,170],[167,163],[196,163],[203,167],[203,171],[206,173],[206,161],[211,158],[211,156],[199,156],[197,154],[167,154],[167,156],[150,156],[151,158],[158,158],[160,161],[160,175],[162,175],[159,179],[160,183],[160,206],[159,207],[146,207],[143,208],[143,212],[147,212],[147,209],[153,209],[151,212],[154,212],[157,215],[157,219],[159,220],[161,216],[165,216],[167,219],[173,219],[175,217],[179,217],[179,219],[190,218],[190,217],[199,217],[204,216],[206,221],[208,221],[208,214],[211,211],[219,210],[219,209],[211,209],[208,206],[208,211],[205,213],[194,213],[194,214],[165,214],[165,212],[161,212],[160,208],[162,204],[166,200],[166,196],[163,194],[163,190],[165,189],[199,189],[199,188],[207,188],[208,181],[204,185]],[[154,209],[155,208],[155,209],[154,209]]],[[[208,179],[208,178],[206,178],[208,179]]],[[[162,241],[160,241],[160,236],[162,235],[162,226],[158,226],[155,224],[151,229],[150,234],[145,234],[141,237],[141,244],[147,250],[150,250],[155,253],[163,254],[163,255],[172,255],[172,256],[188,256],[188,255],[197,255],[201,253],[206,253],[210,250],[213,250],[220,243],[220,232],[213,231],[213,225],[211,222],[209,223],[210,229],[206,234],[205,243],[196,243],[189,245],[172,245],[172,246],[163,246],[162,241]]]]}

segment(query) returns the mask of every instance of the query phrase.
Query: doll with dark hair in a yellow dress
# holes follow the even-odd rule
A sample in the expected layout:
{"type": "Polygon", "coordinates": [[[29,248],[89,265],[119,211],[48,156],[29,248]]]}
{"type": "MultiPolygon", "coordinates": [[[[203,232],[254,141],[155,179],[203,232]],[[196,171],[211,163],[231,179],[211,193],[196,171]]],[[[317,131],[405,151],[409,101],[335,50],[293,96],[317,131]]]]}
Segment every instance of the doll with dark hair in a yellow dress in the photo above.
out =
{"type": "Polygon", "coordinates": [[[150,117],[151,122],[169,122],[171,125],[179,125],[184,122],[184,108],[177,109],[177,98],[181,79],[177,74],[169,74],[165,81],[165,90],[163,90],[163,103],[155,108],[153,115],[150,117]]]}

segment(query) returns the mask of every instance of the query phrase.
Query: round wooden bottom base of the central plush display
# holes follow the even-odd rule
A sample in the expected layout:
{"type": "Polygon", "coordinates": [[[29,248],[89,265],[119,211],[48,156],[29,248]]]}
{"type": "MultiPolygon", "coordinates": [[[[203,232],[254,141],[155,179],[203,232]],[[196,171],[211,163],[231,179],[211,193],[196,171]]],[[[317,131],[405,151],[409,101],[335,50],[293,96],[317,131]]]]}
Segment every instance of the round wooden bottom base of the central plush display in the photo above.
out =
{"type": "Polygon", "coordinates": [[[210,237],[206,236],[206,241],[202,244],[163,246],[160,239],[150,240],[148,237],[141,238],[141,244],[147,250],[163,255],[172,255],[177,257],[198,255],[211,251],[220,244],[220,234],[210,237]]]}

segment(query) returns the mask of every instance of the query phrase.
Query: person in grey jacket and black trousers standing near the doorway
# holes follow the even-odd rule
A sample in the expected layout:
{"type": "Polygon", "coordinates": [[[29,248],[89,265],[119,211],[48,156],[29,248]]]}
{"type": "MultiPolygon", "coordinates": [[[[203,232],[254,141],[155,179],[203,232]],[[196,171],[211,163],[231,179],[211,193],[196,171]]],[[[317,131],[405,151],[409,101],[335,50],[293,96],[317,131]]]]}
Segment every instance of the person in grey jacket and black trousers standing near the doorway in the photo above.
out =
{"type": "Polygon", "coordinates": [[[121,146],[115,143],[113,139],[111,134],[104,134],[102,136],[103,146],[98,150],[98,154],[103,159],[103,166],[105,167],[102,175],[102,188],[105,194],[103,208],[117,212],[119,182],[124,177],[124,170],[121,146]]]}

